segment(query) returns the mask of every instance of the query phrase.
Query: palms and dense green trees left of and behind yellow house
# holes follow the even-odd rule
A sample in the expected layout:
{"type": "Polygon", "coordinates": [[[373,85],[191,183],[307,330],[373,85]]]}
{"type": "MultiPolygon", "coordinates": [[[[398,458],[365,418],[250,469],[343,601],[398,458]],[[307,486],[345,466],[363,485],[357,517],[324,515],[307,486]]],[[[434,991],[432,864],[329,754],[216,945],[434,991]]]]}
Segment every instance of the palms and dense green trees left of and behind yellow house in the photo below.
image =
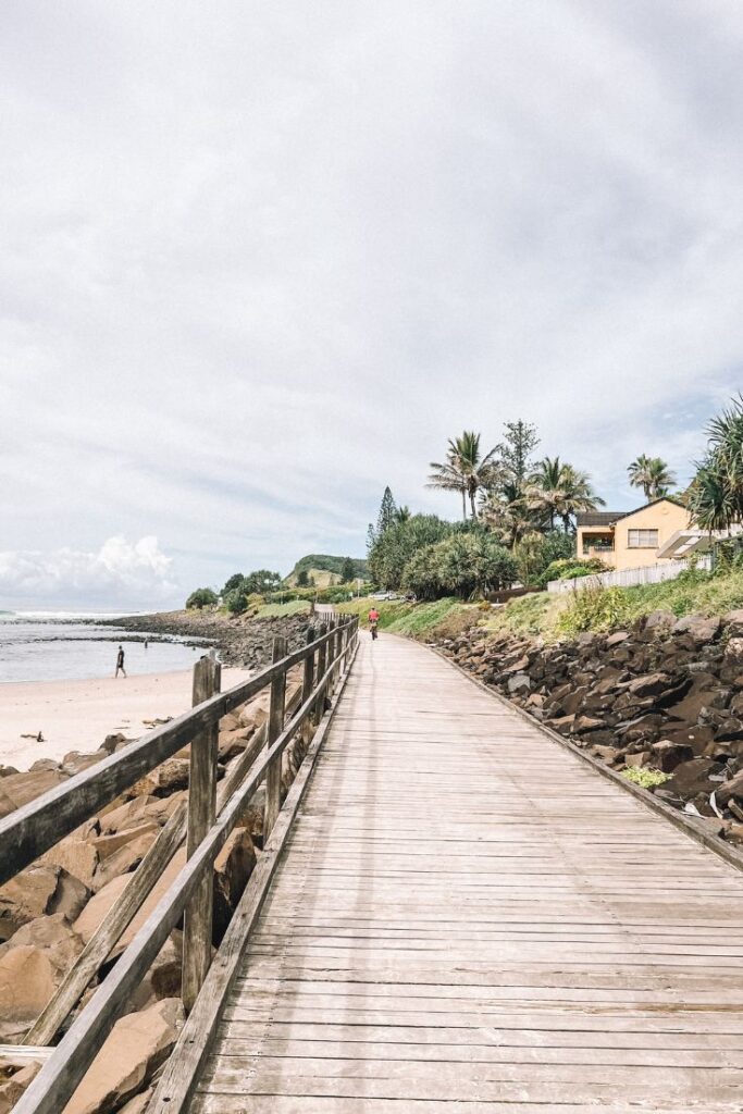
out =
{"type": "MultiPolygon", "coordinates": [[[[460,496],[459,522],[411,515],[395,505],[388,487],[368,532],[374,582],[419,599],[472,598],[517,582],[544,587],[556,575],[604,568],[575,551],[576,515],[597,510],[604,500],[583,469],[558,456],[536,460],[539,443],[536,427],[522,420],[507,422],[502,440],[487,452],[475,430],[451,438],[444,459],[429,466],[427,486],[460,496]]],[[[643,455],[627,472],[647,500],[675,483],[658,457],[643,455]]]]}

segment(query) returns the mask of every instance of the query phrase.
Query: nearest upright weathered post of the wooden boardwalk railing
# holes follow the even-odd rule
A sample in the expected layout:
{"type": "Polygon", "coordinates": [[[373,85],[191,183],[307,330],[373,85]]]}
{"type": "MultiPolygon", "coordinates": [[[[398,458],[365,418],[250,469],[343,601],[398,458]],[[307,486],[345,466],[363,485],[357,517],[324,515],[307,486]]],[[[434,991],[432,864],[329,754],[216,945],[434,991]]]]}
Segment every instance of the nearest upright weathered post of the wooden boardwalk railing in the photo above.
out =
{"type": "MultiPolygon", "coordinates": [[[[219,692],[221,673],[222,667],[212,655],[196,662],[192,702],[194,707],[219,692]]],[[[192,740],[186,844],[189,859],[216,819],[218,752],[219,726],[216,723],[192,740]]],[[[184,915],[182,997],[186,1013],[193,1008],[212,962],[213,902],[214,871],[207,870],[184,915]]]]}

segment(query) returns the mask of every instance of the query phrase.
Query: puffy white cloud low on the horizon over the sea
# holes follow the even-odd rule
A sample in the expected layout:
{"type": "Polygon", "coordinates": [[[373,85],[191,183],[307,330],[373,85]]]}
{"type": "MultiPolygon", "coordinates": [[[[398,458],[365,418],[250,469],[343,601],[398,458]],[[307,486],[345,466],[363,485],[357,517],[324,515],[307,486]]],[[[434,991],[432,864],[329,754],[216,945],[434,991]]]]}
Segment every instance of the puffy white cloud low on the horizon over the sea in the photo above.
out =
{"type": "Polygon", "coordinates": [[[109,538],[95,553],[0,553],[0,599],[35,606],[110,600],[113,606],[141,607],[173,598],[173,558],[157,538],[130,543],[109,538]]]}

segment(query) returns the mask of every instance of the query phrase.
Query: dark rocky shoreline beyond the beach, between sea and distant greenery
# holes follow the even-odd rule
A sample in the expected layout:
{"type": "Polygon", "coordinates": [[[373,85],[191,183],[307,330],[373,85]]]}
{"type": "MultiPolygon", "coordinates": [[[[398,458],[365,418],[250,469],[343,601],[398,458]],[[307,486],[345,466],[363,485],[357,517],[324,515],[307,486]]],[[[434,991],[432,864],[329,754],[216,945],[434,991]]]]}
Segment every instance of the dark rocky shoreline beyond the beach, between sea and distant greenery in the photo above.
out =
{"type": "Polygon", "coordinates": [[[196,645],[212,645],[225,665],[257,670],[271,662],[273,639],[283,635],[290,651],[304,645],[307,615],[283,615],[263,619],[227,616],[213,610],[155,612],[117,619],[98,619],[96,626],[115,626],[133,636],[177,635],[196,645]]]}

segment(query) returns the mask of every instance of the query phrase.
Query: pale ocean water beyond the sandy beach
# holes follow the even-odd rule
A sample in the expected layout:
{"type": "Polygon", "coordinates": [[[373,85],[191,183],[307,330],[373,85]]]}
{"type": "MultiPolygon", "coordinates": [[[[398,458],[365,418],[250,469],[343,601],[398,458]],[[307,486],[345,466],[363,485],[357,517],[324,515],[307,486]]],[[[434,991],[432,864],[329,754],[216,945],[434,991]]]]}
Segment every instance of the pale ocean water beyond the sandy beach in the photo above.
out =
{"type": "Polygon", "coordinates": [[[91,616],[0,613],[0,684],[113,676],[119,644],[130,675],[188,670],[204,652],[203,644],[159,641],[162,635],[151,635],[145,648],[145,635],[81,623],[84,617],[91,616]]]}

